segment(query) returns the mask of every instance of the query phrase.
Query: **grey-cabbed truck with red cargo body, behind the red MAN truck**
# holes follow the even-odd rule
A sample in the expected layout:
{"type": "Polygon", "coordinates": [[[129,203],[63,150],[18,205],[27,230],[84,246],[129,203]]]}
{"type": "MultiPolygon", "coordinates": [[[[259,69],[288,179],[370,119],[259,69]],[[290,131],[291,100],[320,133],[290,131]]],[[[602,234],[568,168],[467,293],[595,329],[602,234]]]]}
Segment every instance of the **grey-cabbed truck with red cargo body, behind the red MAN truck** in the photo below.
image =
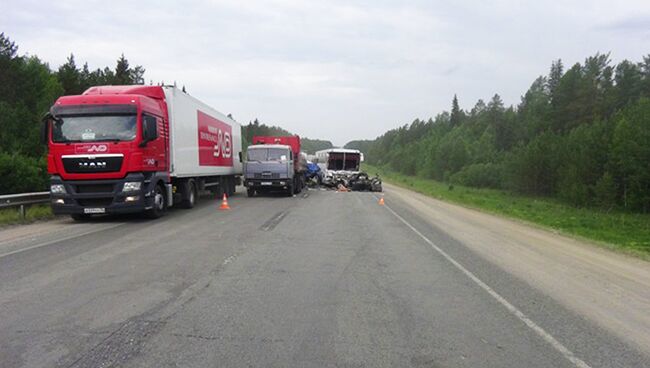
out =
{"type": "Polygon", "coordinates": [[[304,188],[306,170],[299,136],[254,136],[246,150],[244,185],[249,197],[278,190],[292,196],[304,188]]]}

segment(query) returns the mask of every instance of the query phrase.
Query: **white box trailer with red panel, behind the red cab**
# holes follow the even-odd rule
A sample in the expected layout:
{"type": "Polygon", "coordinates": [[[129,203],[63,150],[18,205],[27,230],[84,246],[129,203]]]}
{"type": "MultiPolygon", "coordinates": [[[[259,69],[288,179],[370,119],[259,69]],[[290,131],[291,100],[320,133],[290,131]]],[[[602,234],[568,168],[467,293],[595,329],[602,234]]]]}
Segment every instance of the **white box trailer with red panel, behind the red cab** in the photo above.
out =
{"type": "Polygon", "coordinates": [[[176,87],[163,87],[170,127],[170,175],[241,175],[241,125],[176,87]]]}

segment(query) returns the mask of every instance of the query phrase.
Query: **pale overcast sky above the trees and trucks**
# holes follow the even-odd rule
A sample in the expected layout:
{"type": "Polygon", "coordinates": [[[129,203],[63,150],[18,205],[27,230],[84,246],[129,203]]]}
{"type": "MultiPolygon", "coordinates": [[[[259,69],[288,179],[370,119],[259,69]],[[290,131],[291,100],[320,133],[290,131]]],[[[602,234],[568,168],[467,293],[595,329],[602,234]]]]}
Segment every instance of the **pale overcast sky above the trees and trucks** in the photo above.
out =
{"type": "Polygon", "coordinates": [[[147,83],[343,145],[499,93],[551,61],[650,53],[650,1],[2,0],[0,32],[52,68],[124,53],[147,83]]]}

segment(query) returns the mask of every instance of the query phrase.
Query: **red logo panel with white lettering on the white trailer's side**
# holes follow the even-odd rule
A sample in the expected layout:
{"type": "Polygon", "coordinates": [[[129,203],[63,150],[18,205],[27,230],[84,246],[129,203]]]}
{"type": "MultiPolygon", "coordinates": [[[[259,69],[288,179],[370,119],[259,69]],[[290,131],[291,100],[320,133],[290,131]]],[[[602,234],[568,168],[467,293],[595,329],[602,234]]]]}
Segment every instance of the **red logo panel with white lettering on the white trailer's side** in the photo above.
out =
{"type": "Polygon", "coordinates": [[[232,166],[232,127],[198,111],[199,165],[232,166]]]}

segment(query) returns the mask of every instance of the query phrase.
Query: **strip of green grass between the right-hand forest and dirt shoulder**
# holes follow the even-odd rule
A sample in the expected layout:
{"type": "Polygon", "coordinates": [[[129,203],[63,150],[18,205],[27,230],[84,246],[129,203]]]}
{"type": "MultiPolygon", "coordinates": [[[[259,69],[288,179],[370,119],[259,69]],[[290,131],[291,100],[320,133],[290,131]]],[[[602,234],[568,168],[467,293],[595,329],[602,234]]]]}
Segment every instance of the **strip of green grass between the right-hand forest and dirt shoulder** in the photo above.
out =
{"type": "Polygon", "coordinates": [[[650,260],[650,215],[576,208],[552,198],[529,197],[502,190],[478,189],[406,176],[364,165],[370,175],[427,196],[485,212],[523,220],[563,234],[650,260]]]}

